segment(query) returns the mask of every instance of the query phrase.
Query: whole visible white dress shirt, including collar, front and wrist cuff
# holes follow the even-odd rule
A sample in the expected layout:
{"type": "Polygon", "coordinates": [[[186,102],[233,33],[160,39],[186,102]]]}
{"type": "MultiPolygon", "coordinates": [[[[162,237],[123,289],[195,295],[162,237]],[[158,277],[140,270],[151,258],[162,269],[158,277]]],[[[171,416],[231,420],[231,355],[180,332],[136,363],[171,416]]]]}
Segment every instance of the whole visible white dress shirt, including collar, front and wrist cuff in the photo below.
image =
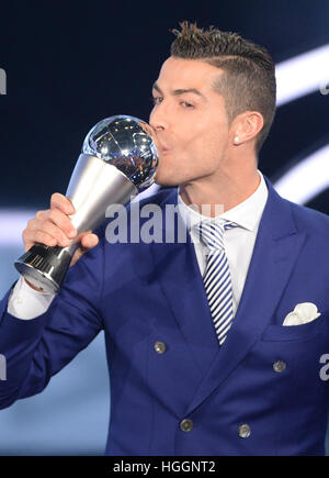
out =
{"type": "MultiPolygon", "coordinates": [[[[259,174],[261,181],[258,189],[243,202],[214,219],[215,221],[219,218],[226,219],[239,225],[239,227],[225,231],[224,234],[224,245],[231,275],[234,314],[243,290],[259,223],[269,194],[263,175],[260,170],[259,174]]],[[[189,220],[189,231],[194,243],[200,271],[204,275],[206,247],[198,241],[197,233],[191,227],[200,223],[201,220],[209,220],[209,218],[186,205],[180,194],[178,194],[178,204],[182,220],[186,221],[186,218],[189,220]]],[[[18,319],[31,320],[46,312],[54,297],[53,293],[38,292],[32,289],[23,277],[20,277],[11,292],[8,312],[18,319]]]]}

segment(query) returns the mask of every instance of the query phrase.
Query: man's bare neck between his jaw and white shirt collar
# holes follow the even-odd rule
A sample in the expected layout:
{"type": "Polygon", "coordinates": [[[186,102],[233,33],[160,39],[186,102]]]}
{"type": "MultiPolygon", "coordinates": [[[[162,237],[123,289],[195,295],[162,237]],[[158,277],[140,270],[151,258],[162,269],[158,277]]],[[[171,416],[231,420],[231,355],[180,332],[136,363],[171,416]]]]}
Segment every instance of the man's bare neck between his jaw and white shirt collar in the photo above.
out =
{"type": "Polygon", "coordinates": [[[207,178],[180,185],[185,204],[195,204],[204,215],[215,218],[248,199],[260,185],[257,168],[235,174],[219,171],[207,178]]]}

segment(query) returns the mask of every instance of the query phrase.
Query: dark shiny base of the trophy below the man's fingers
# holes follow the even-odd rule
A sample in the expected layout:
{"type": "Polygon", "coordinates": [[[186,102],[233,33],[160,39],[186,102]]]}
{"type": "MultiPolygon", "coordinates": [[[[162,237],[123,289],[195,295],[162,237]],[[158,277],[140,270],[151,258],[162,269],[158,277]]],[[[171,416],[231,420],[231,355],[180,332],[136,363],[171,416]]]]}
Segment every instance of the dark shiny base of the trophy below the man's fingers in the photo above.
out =
{"type": "Polygon", "coordinates": [[[33,286],[44,292],[57,293],[70,260],[71,254],[63,247],[35,244],[14,266],[33,286]]]}

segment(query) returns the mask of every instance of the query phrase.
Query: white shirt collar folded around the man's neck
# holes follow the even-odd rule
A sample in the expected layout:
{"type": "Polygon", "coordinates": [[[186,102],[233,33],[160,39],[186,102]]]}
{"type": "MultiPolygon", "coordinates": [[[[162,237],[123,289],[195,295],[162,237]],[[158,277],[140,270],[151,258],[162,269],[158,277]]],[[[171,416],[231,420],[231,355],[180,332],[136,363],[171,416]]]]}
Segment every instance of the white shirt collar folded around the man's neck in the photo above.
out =
{"type": "MultiPolygon", "coordinates": [[[[219,219],[224,219],[227,221],[232,221],[240,227],[247,229],[248,231],[257,231],[269,196],[264,177],[259,169],[258,173],[261,180],[257,190],[245,201],[240,202],[228,211],[216,215],[216,218],[214,218],[215,222],[219,219]]],[[[201,221],[209,221],[208,216],[200,214],[200,212],[185,204],[181,198],[180,191],[178,191],[178,204],[181,219],[185,226],[188,225],[189,230],[201,221]]]]}

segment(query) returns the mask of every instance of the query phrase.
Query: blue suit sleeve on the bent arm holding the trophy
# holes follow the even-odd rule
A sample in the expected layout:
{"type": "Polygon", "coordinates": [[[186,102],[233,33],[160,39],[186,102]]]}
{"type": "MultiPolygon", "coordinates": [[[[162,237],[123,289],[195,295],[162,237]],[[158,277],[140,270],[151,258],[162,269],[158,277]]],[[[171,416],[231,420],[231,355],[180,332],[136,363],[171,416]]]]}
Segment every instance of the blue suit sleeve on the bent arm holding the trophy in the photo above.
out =
{"type": "MultiPolygon", "coordinates": [[[[99,234],[99,232],[97,232],[99,234]]],[[[103,329],[100,301],[104,238],[70,267],[48,310],[32,320],[8,312],[8,291],[0,302],[0,354],[7,379],[0,380],[0,409],[39,393],[103,329]]]]}

